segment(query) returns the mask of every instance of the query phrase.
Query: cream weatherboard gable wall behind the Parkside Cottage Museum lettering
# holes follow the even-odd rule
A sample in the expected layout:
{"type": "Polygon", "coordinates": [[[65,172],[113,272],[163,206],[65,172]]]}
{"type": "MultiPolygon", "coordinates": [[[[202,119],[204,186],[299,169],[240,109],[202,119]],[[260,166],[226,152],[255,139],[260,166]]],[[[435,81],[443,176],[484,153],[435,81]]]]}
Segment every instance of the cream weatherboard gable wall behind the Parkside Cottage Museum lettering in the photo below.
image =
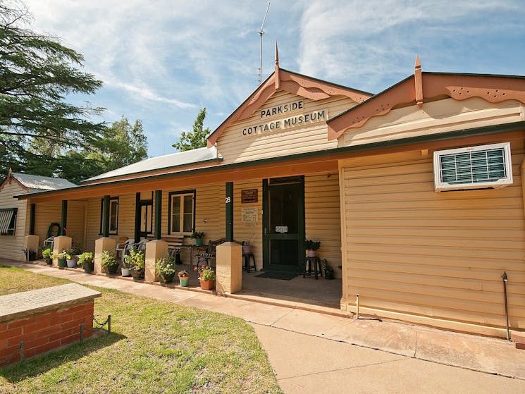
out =
{"type": "Polygon", "coordinates": [[[337,141],[327,140],[326,121],[329,117],[335,116],[355,104],[354,101],[346,97],[312,101],[288,92],[278,92],[252,116],[230,125],[217,141],[218,152],[224,158],[223,164],[230,164],[337,147],[337,141]],[[290,104],[295,101],[304,101],[304,111],[261,118],[261,111],[264,109],[271,109],[274,106],[290,104]],[[325,118],[319,123],[311,123],[306,127],[303,125],[289,130],[274,130],[257,135],[242,135],[242,130],[250,126],[277,120],[282,121],[284,118],[302,113],[318,113],[323,110],[325,111],[325,118]]]}

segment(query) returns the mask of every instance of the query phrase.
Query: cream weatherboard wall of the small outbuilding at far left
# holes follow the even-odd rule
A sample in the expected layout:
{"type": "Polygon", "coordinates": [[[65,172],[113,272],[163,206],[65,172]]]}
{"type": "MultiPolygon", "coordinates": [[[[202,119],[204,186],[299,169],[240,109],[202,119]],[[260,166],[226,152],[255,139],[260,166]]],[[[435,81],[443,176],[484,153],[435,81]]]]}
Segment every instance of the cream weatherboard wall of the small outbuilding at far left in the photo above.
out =
{"type": "Polygon", "coordinates": [[[27,193],[25,188],[21,187],[16,180],[6,183],[0,190],[0,208],[17,208],[16,230],[15,235],[0,235],[0,247],[2,254],[6,259],[17,261],[25,260],[23,253],[23,244],[25,233],[25,218],[27,214],[27,201],[14,199],[14,195],[23,195],[27,193]]]}

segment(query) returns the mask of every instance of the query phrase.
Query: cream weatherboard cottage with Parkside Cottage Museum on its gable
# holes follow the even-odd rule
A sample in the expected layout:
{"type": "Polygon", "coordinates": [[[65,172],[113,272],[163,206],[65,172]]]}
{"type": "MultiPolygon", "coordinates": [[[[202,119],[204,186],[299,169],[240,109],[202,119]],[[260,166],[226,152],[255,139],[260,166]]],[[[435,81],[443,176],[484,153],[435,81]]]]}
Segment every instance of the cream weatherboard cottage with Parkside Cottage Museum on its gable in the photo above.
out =
{"type": "Polygon", "coordinates": [[[226,238],[226,293],[242,287],[234,240],[252,239],[267,271],[300,270],[305,238],[319,240],[341,309],[355,312],[359,294],[362,313],[505,336],[504,271],[510,326],[525,328],[524,137],[523,77],[423,73],[417,61],[372,95],[284,70],[276,56],[207,148],[19,198],[35,221],[62,201],[68,226],[78,208],[96,255],[121,236],[155,238],[150,267],[163,236],[226,238]]]}

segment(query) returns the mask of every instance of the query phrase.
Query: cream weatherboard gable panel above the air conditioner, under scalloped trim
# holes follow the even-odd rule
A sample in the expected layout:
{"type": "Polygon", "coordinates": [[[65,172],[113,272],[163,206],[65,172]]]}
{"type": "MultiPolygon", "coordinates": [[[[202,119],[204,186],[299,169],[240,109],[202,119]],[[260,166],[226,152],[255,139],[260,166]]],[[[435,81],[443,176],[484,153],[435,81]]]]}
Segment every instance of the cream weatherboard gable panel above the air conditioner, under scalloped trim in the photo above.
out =
{"type": "Polygon", "coordinates": [[[525,106],[519,101],[493,104],[478,97],[444,99],[425,103],[422,108],[407,106],[372,117],[361,128],[347,130],[339,140],[340,146],[348,147],[523,120],[525,106]]]}

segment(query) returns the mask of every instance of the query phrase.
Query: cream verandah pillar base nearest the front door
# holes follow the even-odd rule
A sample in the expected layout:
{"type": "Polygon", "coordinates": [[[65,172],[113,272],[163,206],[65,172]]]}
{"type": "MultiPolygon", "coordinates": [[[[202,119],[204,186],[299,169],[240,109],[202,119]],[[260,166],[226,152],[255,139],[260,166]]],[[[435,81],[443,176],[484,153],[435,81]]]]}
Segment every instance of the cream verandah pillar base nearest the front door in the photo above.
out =
{"type": "Polygon", "coordinates": [[[237,242],[217,246],[216,290],[237,293],[242,289],[242,247],[237,242]]]}

